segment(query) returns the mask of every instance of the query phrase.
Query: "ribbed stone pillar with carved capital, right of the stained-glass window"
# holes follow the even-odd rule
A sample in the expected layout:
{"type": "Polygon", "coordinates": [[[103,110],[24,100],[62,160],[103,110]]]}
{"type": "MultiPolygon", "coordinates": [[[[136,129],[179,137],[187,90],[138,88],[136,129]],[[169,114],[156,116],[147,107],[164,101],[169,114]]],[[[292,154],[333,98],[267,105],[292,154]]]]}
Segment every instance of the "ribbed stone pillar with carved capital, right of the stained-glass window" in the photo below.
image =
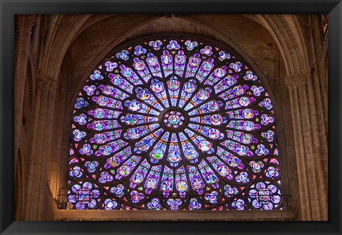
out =
{"type": "Polygon", "coordinates": [[[294,127],[302,220],[327,220],[323,151],[311,68],[286,78],[294,127]]]}

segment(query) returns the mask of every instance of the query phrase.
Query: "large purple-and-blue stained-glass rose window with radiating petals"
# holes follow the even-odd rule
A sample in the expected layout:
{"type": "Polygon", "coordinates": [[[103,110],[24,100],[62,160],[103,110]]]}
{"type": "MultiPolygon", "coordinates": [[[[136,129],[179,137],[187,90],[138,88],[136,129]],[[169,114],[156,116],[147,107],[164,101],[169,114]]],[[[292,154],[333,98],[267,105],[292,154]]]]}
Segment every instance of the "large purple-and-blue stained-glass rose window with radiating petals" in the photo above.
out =
{"type": "Polygon", "coordinates": [[[76,209],[281,209],[271,98],[227,46],[132,43],[104,58],[73,110],[76,209]]]}

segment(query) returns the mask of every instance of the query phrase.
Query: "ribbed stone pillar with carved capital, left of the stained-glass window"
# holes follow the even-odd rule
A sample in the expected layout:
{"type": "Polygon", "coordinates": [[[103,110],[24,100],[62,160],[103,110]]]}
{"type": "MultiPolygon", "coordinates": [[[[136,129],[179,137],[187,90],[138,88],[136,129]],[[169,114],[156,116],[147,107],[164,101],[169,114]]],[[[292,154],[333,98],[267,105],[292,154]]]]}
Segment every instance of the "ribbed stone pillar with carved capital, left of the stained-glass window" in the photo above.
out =
{"type": "MultiPolygon", "coordinates": [[[[33,120],[31,160],[29,162],[24,220],[44,220],[48,189],[48,165],[51,158],[57,82],[40,71],[36,75],[36,105],[33,120]]],[[[52,212],[52,211],[51,211],[52,212]]]]}

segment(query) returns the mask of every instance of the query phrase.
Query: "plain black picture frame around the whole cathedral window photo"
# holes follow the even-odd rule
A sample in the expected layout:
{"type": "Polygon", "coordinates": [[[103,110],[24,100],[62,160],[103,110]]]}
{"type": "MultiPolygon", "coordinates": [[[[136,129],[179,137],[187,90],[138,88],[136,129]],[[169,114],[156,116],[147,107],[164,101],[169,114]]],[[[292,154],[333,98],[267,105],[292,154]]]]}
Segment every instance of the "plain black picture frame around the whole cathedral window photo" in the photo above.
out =
{"type": "Polygon", "coordinates": [[[0,0],[1,234],[341,234],[341,0],[0,0]],[[14,221],[14,14],[328,14],[328,221],[14,221]]]}

